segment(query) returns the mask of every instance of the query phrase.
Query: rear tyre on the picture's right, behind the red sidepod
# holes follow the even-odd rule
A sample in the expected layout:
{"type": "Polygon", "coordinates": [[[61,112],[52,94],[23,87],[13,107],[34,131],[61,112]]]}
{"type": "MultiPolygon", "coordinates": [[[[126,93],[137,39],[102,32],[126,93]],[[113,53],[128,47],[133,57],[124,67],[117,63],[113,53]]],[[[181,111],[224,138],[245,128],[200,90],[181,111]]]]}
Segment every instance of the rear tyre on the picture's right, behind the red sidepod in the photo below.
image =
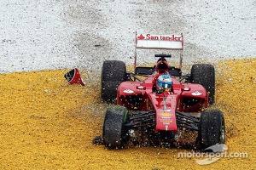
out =
{"type": "Polygon", "coordinates": [[[193,83],[199,83],[206,88],[208,93],[208,102],[212,105],[214,103],[215,95],[215,71],[213,65],[192,65],[190,77],[193,83]]]}

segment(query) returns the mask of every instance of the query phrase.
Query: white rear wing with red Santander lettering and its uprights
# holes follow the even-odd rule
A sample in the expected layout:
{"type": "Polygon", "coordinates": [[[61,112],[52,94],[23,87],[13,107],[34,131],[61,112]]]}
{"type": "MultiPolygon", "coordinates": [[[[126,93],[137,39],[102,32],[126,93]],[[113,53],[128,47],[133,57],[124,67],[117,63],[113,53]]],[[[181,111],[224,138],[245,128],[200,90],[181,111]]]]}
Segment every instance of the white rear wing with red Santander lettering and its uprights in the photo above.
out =
{"type": "Polygon", "coordinates": [[[170,49],[180,50],[180,69],[183,59],[183,34],[180,35],[152,35],[152,34],[137,34],[135,38],[135,69],[137,67],[137,48],[148,49],[170,49]]]}

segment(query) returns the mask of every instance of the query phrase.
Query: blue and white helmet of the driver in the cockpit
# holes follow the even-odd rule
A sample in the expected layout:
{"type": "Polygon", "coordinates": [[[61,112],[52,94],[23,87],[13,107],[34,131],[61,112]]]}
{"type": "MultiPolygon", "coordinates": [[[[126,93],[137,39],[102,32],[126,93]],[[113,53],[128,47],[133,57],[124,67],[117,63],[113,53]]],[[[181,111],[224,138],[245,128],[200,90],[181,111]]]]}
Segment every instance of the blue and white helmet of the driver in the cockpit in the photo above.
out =
{"type": "Polygon", "coordinates": [[[156,89],[160,92],[170,91],[172,88],[172,78],[168,74],[160,75],[156,80],[156,89]]]}

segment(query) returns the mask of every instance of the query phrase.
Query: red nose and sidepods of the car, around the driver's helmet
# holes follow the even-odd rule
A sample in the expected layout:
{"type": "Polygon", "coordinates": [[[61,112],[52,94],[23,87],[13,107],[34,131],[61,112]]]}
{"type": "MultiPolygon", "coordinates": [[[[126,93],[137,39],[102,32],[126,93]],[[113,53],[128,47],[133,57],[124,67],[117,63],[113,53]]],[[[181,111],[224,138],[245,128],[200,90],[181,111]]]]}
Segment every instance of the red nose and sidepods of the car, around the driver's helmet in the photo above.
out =
{"type": "Polygon", "coordinates": [[[176,111],[200,113],[208,107],[208,94],[200,84],[179,82],[172,76],[172,90],[155,94],[154,82],[159,74],[154,71],[143,82],[122,82],[118,88],[117,105],[124,105],[129,111],[154,110],[155,131],[177,133],[176,111]]]}

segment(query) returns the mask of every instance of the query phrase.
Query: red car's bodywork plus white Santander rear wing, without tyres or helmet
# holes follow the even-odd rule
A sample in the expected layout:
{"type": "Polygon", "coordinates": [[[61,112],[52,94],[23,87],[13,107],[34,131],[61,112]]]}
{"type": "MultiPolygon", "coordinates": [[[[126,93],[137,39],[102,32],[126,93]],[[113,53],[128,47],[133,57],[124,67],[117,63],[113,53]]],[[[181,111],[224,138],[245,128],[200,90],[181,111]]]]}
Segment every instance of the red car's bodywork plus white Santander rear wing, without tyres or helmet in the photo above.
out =
{"type": "MultiPolygon", "coordinates": [[[[137,48],[175,49],[181,51],[180,69],[182,67],[183,34],[180,36],[163,36],[136,33],[137,48]]],[[[135,69],[137,68],[137,52],[135,53],[135,69]]],[[[156,70],[142,82],[127,81],[119,85],[117,105],[124,105],[129,111],[155,111],[155,131],[173,131],[177,133],[176,111],[188,113],[190,116],[201,114],[208,107],[207,90],[200,84],[180,82],[172,77],[172,90],[154,93],[155,79],[167,72],[169,65],[161,60],[156,70]]]]}

